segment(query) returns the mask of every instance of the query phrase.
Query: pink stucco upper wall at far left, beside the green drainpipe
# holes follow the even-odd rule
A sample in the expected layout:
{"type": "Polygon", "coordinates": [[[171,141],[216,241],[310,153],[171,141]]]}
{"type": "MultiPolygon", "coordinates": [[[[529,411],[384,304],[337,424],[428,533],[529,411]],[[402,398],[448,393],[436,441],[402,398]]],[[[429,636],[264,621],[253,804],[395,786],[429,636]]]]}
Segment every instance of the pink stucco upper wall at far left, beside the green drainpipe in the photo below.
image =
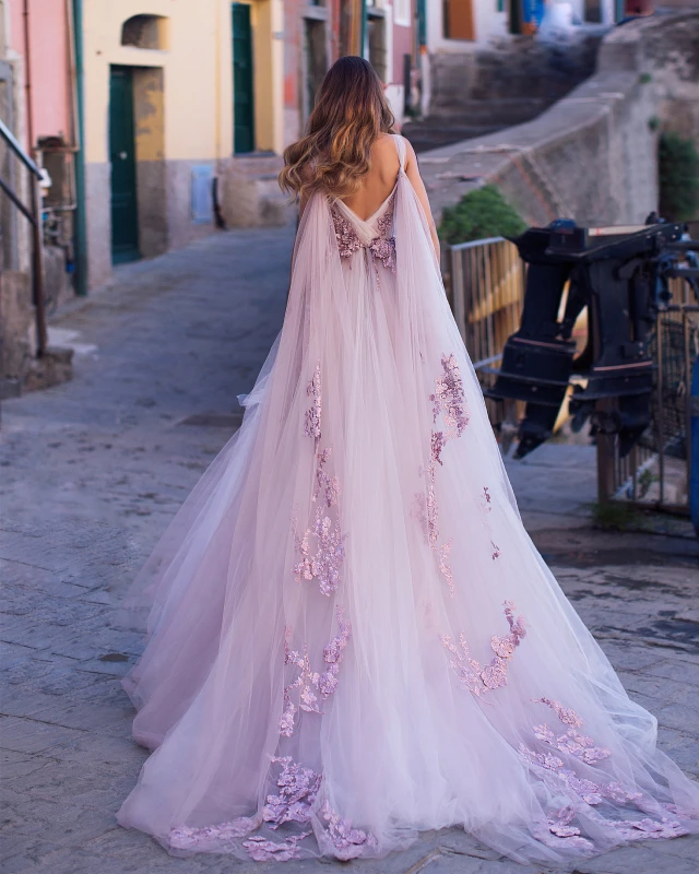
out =
{"type": "Polygon", "coordinates": [[[55,137],[59,133],[71,142],[66,0],[12,0],[10,47],[23,58],[26,56],[25,5],[29,13],[32,123],[35,141],[31,145],[35,145],[40,137],[55,137]]]}

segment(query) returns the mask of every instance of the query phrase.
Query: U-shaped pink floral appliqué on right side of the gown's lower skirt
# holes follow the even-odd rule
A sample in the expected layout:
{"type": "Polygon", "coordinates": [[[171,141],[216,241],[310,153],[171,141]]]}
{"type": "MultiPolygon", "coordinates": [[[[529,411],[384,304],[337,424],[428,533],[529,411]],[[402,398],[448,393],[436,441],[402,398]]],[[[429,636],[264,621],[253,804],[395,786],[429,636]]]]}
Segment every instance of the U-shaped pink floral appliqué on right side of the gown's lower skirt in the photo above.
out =
{"type": "Polygon", "coordinates": [[[495,652],[495,658],[489,664],[483,666],[481,662],[471,658],[471,651],[465,635],[459,635],[459,646],[454,643],[450,635],[442,635],[441,642],[451,652],[451,666],[462,685],[476,696],[484,695],[491,689],[507,686],[507,666],[514,650],[526,636],[524,619],[521,616],[514,617],[517,607],[511,601],[503,604],[505,617],[510,626],[510,633],[490,638],[490,648],[495,652]]]}

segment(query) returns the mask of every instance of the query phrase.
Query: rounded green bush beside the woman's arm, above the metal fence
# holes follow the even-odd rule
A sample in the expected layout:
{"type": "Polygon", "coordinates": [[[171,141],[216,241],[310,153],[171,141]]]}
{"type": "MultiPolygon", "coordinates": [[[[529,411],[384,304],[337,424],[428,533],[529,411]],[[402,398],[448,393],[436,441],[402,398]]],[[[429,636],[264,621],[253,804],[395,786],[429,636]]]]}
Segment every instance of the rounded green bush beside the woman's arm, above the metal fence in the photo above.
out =
{"type": "Polygon", "coordinates": [[[525,229],[522,216],[494,185],[487,185],[445,209],[439,236],[445,243],[455,244],[486,237],[516,237],[525,229]]]}

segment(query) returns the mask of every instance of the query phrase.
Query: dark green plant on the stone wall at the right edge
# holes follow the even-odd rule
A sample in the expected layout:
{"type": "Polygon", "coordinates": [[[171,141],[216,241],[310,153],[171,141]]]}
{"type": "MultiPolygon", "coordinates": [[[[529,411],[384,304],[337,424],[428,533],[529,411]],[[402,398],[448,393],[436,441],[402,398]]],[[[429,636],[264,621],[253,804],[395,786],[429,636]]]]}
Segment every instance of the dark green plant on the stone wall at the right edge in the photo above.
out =
{"type": "Polygon", "coordinates": [[[660,212],[688,222],[699,215],[699,152],[690,139],[665,131],[657,145],[660,212]]]}

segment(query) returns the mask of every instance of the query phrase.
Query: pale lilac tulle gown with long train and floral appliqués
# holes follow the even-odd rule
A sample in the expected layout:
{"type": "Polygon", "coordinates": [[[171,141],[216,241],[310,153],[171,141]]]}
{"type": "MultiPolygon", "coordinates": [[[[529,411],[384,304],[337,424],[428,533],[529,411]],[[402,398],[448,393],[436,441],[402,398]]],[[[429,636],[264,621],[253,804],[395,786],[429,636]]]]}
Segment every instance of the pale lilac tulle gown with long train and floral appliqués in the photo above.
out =
{"type": "Polygon", "coordinates": [[[404,169],[315,194],[241,428],[128,606],[155,749],[119,811],[170,852],[377,858],[462,826],[561,867],[697,830],[520,521],[404,169]]]}

